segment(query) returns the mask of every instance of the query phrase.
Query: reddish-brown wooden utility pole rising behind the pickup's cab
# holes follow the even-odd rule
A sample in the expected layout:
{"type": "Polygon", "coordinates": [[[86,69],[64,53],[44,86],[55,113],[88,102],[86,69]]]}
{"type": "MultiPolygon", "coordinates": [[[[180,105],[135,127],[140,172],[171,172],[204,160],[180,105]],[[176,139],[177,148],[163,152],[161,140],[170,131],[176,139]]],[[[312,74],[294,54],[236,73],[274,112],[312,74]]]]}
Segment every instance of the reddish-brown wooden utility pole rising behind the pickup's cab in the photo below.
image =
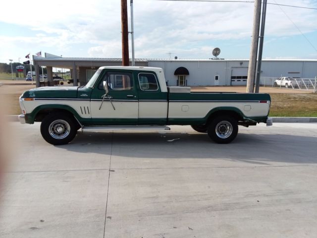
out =
{"type": "Polygon", "coordinates": [[[121,0],[122,66],[129,66],[129,31],[127,0],[121,0]]]}

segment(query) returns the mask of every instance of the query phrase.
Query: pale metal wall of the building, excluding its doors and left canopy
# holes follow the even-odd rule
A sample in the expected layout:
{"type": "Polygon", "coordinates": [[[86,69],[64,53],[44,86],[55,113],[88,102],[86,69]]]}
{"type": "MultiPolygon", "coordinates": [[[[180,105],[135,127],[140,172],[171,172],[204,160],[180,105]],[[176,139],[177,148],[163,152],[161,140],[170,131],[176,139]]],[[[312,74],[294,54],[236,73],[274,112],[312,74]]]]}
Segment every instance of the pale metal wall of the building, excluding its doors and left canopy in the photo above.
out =
{"type": "MultiPolygon", "coordinates": [[[[188,86],[213,86],[215,85],[215,75],[219,76],[219,85],[231,85],[232,72],[247,71],[248,65],[249,60],[149,60],[148,62],[148,66],[163,68],[169,86],[176,86],[177,76],[174,75],[174,72],[178,67],[185,67],[189,70],[189,75],[186,76],[188,86]]],[[[261,71],[263,77],[282,75],[315,78],[317,60],[264,60],[261,71]]],[[[244,81],[240,82],[243,85],[246,84],[244,81]]],[[[233,85],[239,84],[236,82],[233,85]]]]}

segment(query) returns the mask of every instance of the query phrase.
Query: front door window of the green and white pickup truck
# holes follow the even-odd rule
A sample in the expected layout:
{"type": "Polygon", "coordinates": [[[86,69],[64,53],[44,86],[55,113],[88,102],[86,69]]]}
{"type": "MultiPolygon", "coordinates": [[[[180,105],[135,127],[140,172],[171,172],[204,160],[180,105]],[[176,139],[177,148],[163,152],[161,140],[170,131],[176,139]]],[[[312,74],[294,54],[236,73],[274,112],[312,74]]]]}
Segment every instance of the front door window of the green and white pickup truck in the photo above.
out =
{"type": "Polygon", "coordinates": [[[103,89],[104,81],[107,81],[109,90],[122,91],[133,89],[133,78],[131,73],[107,72],[99,85],[99,89],[103,89]]]}

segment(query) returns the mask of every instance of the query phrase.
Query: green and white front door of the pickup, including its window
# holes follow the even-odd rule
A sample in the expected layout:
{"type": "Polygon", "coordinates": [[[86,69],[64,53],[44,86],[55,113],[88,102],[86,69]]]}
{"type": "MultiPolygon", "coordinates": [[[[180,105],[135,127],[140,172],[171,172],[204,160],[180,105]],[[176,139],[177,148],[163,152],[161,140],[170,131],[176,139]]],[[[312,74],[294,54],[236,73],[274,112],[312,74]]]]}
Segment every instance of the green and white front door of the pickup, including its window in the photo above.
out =
{"type": "Polygon", "coordinates": [[[107,71],[91,96],[91,116],[96,122],[109,125],[129,125],[138,122],[138,94],[133,74],[129,71],[107,71]],[[100,109],[107,81],[110,99],[105,99],[100,109]],[[113,108],[114,107],[114,108],[113,108]]]}

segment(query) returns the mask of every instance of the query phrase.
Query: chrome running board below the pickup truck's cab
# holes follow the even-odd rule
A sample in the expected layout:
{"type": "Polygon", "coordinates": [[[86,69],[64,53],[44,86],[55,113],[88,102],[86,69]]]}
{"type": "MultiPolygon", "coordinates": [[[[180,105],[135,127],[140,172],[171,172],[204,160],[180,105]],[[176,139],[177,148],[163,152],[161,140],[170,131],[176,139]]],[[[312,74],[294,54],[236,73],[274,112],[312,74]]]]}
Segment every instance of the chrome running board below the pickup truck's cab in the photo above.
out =
{"type": "Polygon", "coordinates": [[[82,131],[102,132],[109,130],[170,130],[168,126],[159,125],[107,125],[107,126],[83,126],[82,131]]]}

